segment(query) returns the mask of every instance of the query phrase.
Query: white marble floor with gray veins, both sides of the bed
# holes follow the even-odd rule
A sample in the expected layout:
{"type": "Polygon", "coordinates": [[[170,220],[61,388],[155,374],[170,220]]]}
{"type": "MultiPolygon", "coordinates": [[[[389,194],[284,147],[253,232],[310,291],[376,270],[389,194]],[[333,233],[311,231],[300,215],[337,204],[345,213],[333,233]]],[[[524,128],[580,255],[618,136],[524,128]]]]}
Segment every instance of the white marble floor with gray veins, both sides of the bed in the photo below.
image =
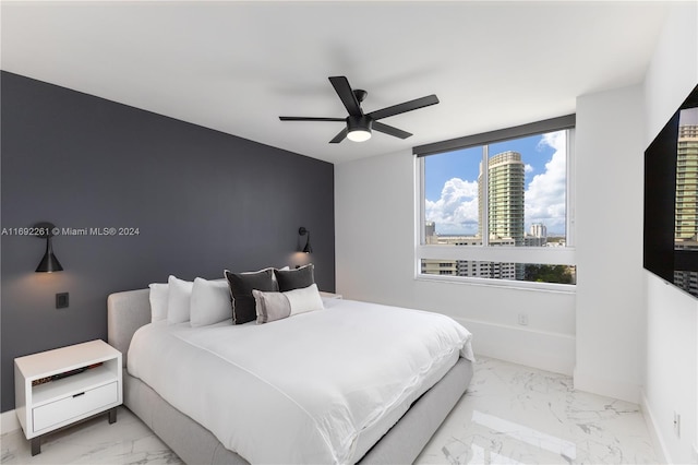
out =
{"type": "MultiPolygon", "coordinates": [[[[21,430],[0,437],[2,464],[181,464],[127,408],[47,436],[32,456],[21,430]]],[[[416,464],[658,463],[637,405],[574,391],[571,378],[480,357],[468,393],[416,464]]]]}

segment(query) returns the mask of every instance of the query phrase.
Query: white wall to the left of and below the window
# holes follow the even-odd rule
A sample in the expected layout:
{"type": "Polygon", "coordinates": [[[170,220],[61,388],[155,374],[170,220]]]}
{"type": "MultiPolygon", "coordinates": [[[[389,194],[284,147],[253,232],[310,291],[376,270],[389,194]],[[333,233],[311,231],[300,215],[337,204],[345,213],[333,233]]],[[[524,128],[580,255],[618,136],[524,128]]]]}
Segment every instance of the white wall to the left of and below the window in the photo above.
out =
{"type": "Polygon", "coordinates": [[[409,151],[335,166],[337,291],[448,314],[478,354],[571,373],[574,294],[414,279],[414,190],[409,151]]]}

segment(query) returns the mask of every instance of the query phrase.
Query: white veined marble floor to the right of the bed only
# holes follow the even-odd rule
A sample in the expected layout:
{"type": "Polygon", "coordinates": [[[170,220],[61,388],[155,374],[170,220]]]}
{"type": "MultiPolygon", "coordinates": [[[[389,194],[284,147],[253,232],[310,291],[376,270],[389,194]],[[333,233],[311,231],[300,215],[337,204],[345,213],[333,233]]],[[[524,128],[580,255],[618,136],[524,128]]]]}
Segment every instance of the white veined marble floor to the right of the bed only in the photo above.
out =
{"type": "Polygon", "coordinates": [[[481,357],[468,393],[416,463],[658,462],[638,405],[575,391],[564,374],[481,357]]]}

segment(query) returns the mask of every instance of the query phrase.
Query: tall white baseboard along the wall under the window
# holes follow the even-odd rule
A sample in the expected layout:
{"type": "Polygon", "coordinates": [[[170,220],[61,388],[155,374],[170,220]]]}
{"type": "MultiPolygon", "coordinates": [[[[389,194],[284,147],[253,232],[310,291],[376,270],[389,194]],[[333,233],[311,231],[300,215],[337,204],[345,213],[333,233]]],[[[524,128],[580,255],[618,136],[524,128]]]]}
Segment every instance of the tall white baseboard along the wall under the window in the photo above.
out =
{"type": "Polygon", "coordinates": [[[571,375],[575,336],[454,318],[472,333],[476,354],[571,375]]]}

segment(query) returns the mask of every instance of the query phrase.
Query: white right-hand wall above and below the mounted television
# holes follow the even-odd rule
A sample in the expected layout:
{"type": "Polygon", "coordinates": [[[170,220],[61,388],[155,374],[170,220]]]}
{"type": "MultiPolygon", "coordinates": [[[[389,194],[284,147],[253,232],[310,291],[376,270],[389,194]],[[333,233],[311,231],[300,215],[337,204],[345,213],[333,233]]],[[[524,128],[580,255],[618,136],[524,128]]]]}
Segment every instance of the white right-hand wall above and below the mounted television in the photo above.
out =
{"type": "MultiPolygon", "coordinates": [[[[698,4],[674,4],[645,82],[648,145],[698,84],[698,4]]],[[[671,463],[697,463],[698,303],[649,272],[646,417],[671,463]],[[674,433],[674,412],[682,433],[674,433]]]]}

